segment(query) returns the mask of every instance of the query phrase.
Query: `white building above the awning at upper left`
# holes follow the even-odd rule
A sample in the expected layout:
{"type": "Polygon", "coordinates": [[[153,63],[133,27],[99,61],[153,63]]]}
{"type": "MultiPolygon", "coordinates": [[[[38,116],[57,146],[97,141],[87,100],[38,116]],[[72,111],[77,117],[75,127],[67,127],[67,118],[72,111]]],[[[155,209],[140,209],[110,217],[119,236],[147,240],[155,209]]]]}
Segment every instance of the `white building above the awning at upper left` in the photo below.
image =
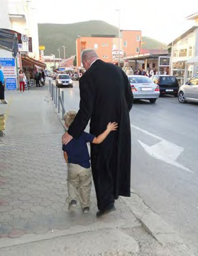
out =
{"type": "Polygon", "coordinates": [[[1,0],[0,28],[11,29],[29,37],[19,44],[19,51],[39,60],[38,25],[34,0],[1,0]]]}

